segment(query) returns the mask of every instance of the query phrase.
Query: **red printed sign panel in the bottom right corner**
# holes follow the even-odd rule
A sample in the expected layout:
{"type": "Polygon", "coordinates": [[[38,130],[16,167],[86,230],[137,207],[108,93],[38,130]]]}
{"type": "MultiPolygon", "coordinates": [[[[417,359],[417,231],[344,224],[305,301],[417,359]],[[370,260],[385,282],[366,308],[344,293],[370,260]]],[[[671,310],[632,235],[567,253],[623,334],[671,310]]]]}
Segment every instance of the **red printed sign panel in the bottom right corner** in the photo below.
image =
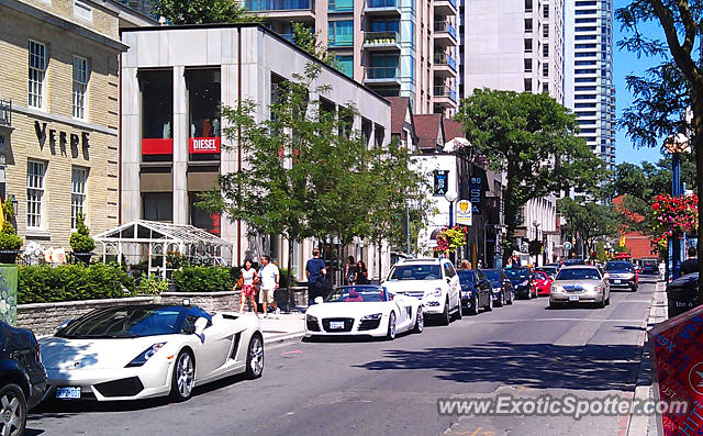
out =
{"type": "Polygon", "coordinates": [[[687,402],[685,411],[662,411],[659,434],[694,435],[703,428],[703,306],[655,326],[649,333],[655,399],[687,402]]]}

